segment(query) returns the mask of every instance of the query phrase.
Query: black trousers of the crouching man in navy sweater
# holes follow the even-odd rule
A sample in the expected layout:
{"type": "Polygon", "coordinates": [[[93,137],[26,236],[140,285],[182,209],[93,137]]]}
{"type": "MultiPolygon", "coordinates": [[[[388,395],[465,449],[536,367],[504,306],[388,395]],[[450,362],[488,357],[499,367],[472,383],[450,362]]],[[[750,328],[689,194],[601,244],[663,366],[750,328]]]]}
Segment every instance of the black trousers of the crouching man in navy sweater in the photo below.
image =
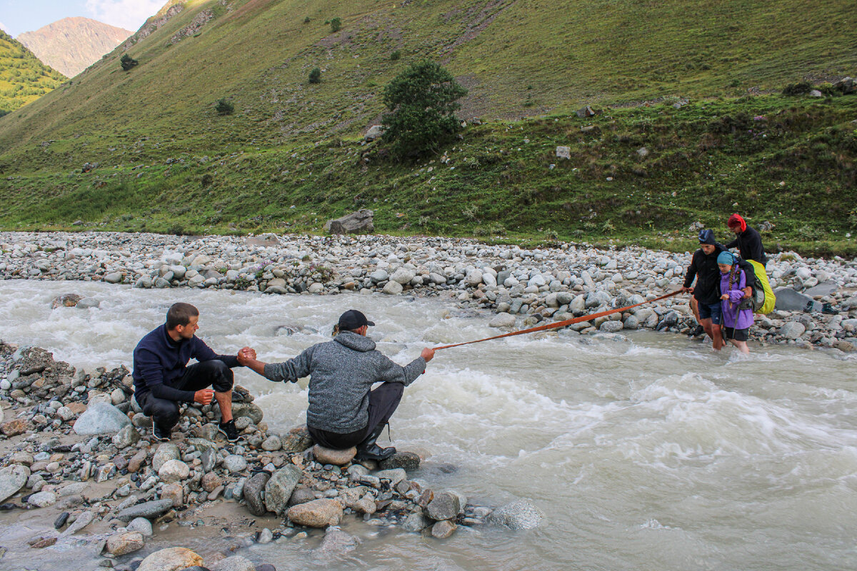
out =
{"type": "MultiPolygon", "coordinates": [[[[182,378],[174,381],[171,386],[178,390],[202,390],[212,387],[215,392],[225,393],[232,390],[235,375],[221,360],[202,361],[185,369],[182,378]]],[[[146,391],[137,396],[137,404],[143,409],[143,414],[152,417],[153,422],[163,431],[170,431],[178,423],[178,401],[160,399],[146,391]]]]}

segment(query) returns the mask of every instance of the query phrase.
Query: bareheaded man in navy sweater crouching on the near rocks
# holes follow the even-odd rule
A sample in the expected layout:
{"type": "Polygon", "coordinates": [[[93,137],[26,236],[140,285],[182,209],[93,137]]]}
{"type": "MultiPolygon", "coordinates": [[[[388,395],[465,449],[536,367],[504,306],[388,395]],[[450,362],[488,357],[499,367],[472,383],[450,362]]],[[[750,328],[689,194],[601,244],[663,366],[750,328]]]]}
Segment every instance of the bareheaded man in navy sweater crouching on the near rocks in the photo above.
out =
{"type": "MultiPolygon", "coordinates": [[[[218,428],[230,442],[238,439],[232,419],[231,368],[240,366],[236,355],[215,354],[195,336],[200,312],[189,303],[175,303],[166,323],[150,331],[134,349],[134,396],[143,413],[152,417],[157,440],[170,439],[178,422],[181,402],[206,405],[216,400],[220,407],[218,428]],[[188,361],[199,362],[188,366],[188,361]],[[213,387],[209,389],[208,387],[213,387]]],[[[255,358],[249,347],[241,349],[255,358]]]]}

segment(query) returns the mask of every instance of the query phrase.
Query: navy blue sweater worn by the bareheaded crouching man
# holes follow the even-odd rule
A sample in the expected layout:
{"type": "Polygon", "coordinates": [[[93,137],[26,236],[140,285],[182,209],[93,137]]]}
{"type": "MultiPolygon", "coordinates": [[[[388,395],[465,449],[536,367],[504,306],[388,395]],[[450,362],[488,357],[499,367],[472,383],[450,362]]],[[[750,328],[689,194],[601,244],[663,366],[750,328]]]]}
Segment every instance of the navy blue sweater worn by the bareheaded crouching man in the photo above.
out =
{"type": "Polygon", "coordinates": [[[193,390],[178,390],[172,386],[182,378],[191,359],[221,360],[230,368],[238,366],[236,355],[216,354],[197,336],[173,341],[163,324],[147,333],[134,349],[135,396],[139,400],[151,390],[156,398],[193,402],[193,390]]]}

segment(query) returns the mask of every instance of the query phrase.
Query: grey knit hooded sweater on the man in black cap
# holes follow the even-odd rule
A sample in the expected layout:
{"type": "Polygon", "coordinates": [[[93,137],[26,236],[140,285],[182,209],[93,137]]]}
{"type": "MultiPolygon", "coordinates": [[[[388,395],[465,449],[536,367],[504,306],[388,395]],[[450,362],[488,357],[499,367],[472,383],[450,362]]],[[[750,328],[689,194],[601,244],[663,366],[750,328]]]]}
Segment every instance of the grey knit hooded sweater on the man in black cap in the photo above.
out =
{"type": "Polygon", "coordinates": [[[307,424],[347,434],[369,424],[372,384],[408,386],[425,368],[422,357],[407,366],[397,365],[375,350],[375,342],[369,337],[343,331],[333,341],[313,345],[285,363],[268,363],[265,377],[297,383],[297,379],[310,375],[307,424]]]}

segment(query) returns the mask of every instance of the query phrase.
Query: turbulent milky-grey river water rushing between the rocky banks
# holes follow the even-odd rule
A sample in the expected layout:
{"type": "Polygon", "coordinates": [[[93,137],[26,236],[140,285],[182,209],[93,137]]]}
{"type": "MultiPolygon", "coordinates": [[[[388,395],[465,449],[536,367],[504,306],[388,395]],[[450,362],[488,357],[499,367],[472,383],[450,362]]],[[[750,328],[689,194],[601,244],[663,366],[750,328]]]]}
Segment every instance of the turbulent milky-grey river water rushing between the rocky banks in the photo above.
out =
{"type": "MultiPolygon", "coordinates": [[[[351,307],[375,321],[378,348],[402,364],[426,346],[496,334],[488,314],[438,300],[7,281],[0,336],[87,369],[130,367],[135,343],[178,300],[200,308],[198,335],[215,350],[250,345],[267,361],[327,341],[351,307]],[[101,306],[51,311],[52,297],[67,292],[101,306]]],[[[393,417],[396,446],[431,454],[413,477],[481,505],[528,498],[544,525],[459,528],[437,541],[367,532],[354,521],[345,529],[363,543],[326,566],[857,568],[854,365],[784,347],[753,348],[746,358],[714,354],[651,332],[518,336],[440,351],[393,417]]],[[[306,381],[272,384],[237,369],[237,382],[254,392],[274,430],[303,421],[306,381]]],[[[303,568],[317,541],[256,545],[247,556],[303,568]]]]}

